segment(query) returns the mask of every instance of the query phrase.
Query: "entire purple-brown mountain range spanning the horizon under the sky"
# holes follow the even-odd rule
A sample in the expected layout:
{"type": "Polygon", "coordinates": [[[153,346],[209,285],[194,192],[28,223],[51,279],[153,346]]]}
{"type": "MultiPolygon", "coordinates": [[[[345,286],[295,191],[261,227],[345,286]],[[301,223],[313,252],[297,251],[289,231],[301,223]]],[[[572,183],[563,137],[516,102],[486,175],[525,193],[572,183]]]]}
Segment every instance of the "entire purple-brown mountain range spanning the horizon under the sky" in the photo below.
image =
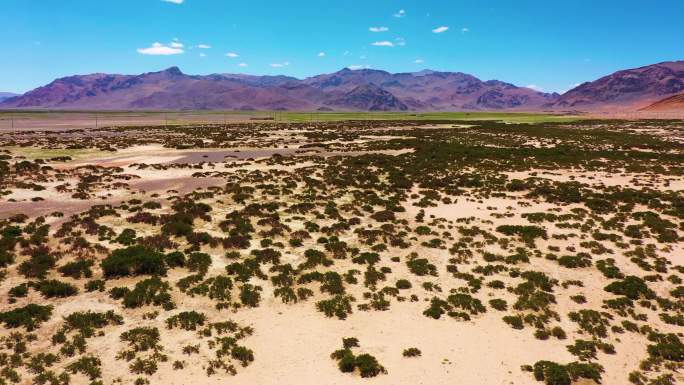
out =
{"type": "Polygon", "coordinates": [[[228,109],[319,111],[601,110],[643,108],[684,92],[684,61],[619,71],[563,95],[482,81],[461,72],[342,69],[306,79],[187,75],[171,67],[141,75],[57,79],[0,100],[5,109],[228,109]]]}

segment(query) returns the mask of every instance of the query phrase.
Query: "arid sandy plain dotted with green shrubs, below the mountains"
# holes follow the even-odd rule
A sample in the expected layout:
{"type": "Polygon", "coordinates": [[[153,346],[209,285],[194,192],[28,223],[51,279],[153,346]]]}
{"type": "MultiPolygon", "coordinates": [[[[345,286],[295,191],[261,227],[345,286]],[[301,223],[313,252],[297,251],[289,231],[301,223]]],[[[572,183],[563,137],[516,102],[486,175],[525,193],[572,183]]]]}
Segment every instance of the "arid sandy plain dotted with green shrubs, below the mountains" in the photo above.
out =
{"type": "Polygon", "coordinates": [[[682,121],[220,120],[3,128],[1,385],[684,382],[682,121]]]}

